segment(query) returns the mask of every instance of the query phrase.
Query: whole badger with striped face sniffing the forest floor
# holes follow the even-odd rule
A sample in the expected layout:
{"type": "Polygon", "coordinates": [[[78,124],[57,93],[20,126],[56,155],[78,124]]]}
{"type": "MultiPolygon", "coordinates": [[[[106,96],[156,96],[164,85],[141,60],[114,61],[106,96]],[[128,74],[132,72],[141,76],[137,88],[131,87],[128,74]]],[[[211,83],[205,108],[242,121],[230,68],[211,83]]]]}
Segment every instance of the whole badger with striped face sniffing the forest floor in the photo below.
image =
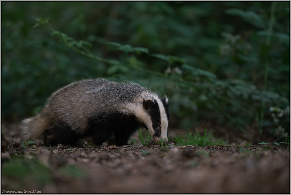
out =
{"type": "Polygon", "coordinates": [[[92,137],[101,145],[111,137],[127,145],[129,137],[145,127],[156,144],[168,142],[169,100],[132,82],[80,80],[58,89],[34,117],[20,123],[22,140],[43,137],[45,145],[76,145],[92,137]]]}

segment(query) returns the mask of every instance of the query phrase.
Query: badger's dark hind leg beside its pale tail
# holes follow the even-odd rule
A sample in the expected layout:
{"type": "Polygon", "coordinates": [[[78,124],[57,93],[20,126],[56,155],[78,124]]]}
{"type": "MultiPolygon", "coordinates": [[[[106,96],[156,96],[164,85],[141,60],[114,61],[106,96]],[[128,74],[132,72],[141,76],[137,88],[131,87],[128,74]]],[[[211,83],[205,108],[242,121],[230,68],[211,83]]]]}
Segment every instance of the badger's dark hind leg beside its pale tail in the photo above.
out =
{"type": "Polygon", "coordinates": [[[43,136],[45,145],[47,146],[58,144],[77,145],[78,139],[83,137],[82,135],[76,134],[72,128],[65,123],[58,123],[57,126],[45,130],[43,136]]]}

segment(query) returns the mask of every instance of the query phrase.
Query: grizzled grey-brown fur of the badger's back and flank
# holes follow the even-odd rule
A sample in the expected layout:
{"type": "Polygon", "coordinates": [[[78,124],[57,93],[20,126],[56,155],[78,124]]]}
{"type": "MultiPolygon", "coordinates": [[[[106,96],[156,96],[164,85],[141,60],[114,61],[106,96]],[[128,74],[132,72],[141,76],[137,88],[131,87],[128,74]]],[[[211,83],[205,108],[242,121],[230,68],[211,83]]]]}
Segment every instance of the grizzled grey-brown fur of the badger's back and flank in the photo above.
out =
{"type": "Polygon", "coordinates": [[[123,110],[124,104],[135,103],[143,92],[145,88],[135,83],[81,80],[53,93],[41,115],[51,121],[65,122],[83,133],[91,115],[123,110]]]}

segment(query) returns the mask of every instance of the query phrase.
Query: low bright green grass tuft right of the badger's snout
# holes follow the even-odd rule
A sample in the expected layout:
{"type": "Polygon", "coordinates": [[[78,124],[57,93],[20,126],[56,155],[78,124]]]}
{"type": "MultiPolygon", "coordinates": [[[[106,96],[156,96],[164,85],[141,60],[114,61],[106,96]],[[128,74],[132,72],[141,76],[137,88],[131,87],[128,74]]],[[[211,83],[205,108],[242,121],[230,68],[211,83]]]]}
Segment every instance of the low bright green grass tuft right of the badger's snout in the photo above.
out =
{"type": "Polygon", "coordinates": [[[197,145],[200,147],[211,146],[211,145],[221,145],[225,141],[223,137],[214,139],[213,132],[207,132],[207,129],[204,128],[204,134],[201,136],[198,132],[196,134],[189,133],[189,135],[176,135],[174,138],[170,138],[174,142],[176,142],[177,146],[184,146],[184,145],[197,145]]]}

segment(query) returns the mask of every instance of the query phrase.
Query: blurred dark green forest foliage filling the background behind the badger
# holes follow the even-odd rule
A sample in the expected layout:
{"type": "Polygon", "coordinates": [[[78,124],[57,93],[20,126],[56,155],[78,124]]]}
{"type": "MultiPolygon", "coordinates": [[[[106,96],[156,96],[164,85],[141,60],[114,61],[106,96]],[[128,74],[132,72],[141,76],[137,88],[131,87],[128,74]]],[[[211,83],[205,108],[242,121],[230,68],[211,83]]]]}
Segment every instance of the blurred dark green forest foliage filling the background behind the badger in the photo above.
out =
{"type": "Polygon", "coordinates": [[[107,77],[167,94],[184,129],[215,120],[251,136],[256,122],[259,134],[289,135],[290,2],[1,5],[5,119],[36,114],[73,81],[107,77]]]}

